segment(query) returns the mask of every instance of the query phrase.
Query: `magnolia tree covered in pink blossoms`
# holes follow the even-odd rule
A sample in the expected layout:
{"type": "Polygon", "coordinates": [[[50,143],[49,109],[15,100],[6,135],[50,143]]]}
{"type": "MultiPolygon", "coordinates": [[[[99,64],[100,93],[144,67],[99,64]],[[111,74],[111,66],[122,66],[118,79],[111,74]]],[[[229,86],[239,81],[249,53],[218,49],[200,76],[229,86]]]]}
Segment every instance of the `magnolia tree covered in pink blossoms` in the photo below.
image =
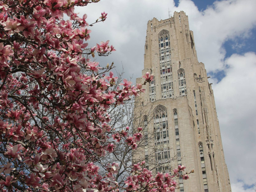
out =
{"type": "MultiPolygon", "coordinates": [[[[175,177],[188,178],[178,173],[184,166],[153,176],[142,161],[120,185],[118,163],[101,162],[121,140],[136,150],[141,128],[114,129],[108,110],[143,89],[126,79],[111,89],[113,65],[88,59],[115,51],[109,41],[88,48],[94,23],[74,13],[97,1],[0,1],[0,191],[165,192],[177,188],[175,177]]],[[[146,84],[153,75],[144,78],[146,84]]]]}

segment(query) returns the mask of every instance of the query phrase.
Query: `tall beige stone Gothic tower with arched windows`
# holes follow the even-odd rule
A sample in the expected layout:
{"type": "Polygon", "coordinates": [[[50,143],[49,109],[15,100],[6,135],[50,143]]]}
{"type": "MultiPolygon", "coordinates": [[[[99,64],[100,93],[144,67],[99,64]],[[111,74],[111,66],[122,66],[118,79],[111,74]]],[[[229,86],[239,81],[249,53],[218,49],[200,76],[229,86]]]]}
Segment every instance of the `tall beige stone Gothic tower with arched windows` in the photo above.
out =
{"type": "Polygon", "coordinates": [[[155,78],[144,85],[135,114],[152,116],[144,116],[146,142],[133,159],[145,159],[154,173],[181,164],[194,169],[189,180],[179,180],[180,192],[231,192],[210,77],[197,60],[185,12],[148,21],[146,72],[155,78]]]}

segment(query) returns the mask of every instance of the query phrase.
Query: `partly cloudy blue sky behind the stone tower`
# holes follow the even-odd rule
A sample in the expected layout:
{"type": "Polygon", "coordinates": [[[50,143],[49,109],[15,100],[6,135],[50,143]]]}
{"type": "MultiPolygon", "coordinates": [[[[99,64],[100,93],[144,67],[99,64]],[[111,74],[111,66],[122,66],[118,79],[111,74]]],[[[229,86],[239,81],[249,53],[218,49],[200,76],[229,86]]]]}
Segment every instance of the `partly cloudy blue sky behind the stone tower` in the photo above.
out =
{"type": "Polygon", "coordinates": [[[188,15],[199,62],[205,64],[215,103],[232,192],[254,192],[256,182],[256,0],[101,0],[76,8],[93,23],[90,46],[110,40],[117,50],[97,58],[114,62],[123,78],[142,76],[148,20],[188,15]]]}

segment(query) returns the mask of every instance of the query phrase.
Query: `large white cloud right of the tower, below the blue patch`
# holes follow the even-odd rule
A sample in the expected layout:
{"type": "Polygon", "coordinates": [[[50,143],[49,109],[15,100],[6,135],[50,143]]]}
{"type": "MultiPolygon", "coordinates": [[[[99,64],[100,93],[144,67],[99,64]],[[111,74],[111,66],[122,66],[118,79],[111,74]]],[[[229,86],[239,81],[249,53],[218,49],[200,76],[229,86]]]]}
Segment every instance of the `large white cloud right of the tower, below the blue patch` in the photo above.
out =
{"type": "Polygon", "coordinates": [[[213,85],[231,183],[256,182],[256,54],[226,59],[226,76],[213,85]]]}

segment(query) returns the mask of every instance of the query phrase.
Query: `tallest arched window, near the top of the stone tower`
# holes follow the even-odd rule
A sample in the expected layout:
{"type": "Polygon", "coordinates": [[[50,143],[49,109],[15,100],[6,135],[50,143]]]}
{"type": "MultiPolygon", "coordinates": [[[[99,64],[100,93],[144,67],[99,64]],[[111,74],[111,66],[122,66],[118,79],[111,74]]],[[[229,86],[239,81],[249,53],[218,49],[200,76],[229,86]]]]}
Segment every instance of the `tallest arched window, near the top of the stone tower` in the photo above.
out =
{"type": "Polygon", "coordinates": [[[158,43],[162,98],[174,98],[170,35],[168,31],[162,30],[159,33],[158,43]]]}

